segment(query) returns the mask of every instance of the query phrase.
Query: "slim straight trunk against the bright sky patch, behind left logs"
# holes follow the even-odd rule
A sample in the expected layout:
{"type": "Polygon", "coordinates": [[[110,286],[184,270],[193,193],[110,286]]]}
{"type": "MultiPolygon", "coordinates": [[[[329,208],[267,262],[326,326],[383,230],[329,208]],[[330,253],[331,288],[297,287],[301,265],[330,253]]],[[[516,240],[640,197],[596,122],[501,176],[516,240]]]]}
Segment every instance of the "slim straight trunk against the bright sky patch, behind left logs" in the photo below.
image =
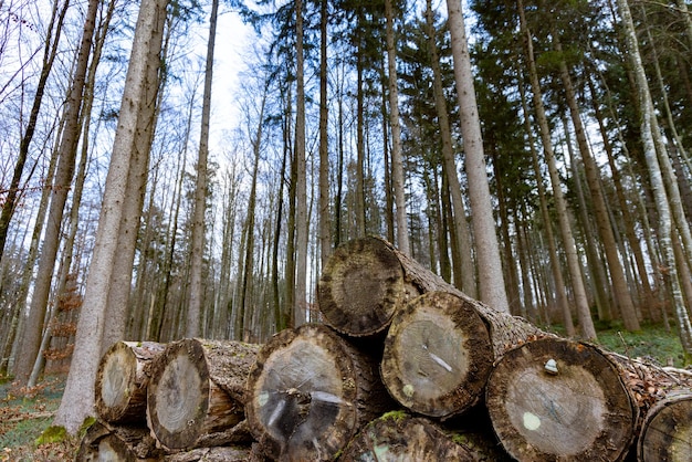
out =
{"type": "Polygon", "coordinates": [[[200,335],[205,284],[202,260],[205,255],[205,217],[207,214],[207,159],[209,157],[209,118],[211,114],[211,82],[213,77],[213,50],[217,39],[219,0],[211,2],[207,61],[205,63],[205,93],[202,95],[202,120],[197,158],[195,204],[192,207],[192,237],[190,252],[190,284],[187,308],[186,336],[200,335]]]}

